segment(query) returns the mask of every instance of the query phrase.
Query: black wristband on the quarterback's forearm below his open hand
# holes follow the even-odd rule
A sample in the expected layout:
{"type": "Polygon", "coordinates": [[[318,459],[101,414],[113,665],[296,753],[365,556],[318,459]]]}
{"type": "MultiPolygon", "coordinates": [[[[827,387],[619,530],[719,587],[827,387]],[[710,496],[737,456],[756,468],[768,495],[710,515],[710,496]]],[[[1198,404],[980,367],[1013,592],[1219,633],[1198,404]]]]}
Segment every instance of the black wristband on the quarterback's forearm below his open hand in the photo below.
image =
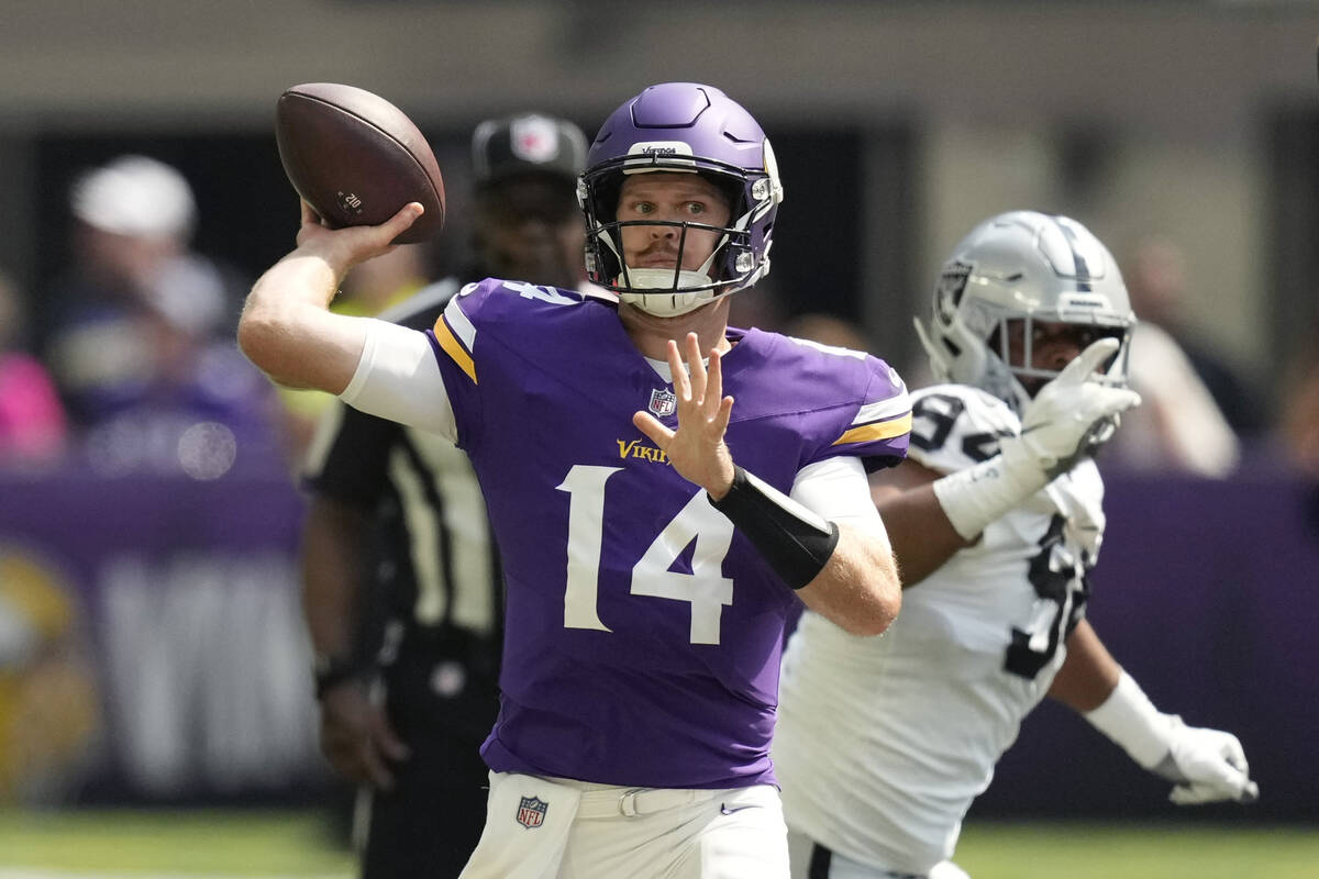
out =
{"type": "Polygon", "coordinates": [[[838,525],[733,467],[733,485],[710,503],[747,535],[769,567],[793,589],[824,569],[838,546],[838,525]]]}

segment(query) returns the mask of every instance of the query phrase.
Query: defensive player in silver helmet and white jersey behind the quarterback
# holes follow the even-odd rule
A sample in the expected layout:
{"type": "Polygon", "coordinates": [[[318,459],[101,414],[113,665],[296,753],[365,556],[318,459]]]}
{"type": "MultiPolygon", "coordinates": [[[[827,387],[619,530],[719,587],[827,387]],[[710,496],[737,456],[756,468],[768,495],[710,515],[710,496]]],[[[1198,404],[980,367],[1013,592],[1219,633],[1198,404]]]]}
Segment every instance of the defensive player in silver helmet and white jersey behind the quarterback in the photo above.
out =
{"type": "Polygon", "coordinates": [[[911,447],[873,497],[902,615],[856,638],[807,611],[785,658],[773,758],[799,879],[964,875],[971,801],[1046,696],[1084,714],[1174,803],[1253,800],[1236,737],[1159,713],[1083,618],[1104,532],[1091,452],[1138,403],[1134,315],[1112,256],[1075,220],[1018,211],[943,266],[935,376],[911,447]]]}

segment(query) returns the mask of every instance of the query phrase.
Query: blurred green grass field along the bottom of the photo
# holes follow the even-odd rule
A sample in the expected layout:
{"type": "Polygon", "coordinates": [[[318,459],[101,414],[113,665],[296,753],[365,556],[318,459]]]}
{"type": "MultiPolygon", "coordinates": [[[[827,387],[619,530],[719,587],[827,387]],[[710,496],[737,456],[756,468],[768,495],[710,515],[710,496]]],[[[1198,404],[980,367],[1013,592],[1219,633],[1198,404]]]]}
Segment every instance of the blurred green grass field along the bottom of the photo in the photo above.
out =
{"type": "MultiPolygon", "coordinates": [[[[973,879],[1316,879],[1319,829],[973,824],[973,879]]],[[[0,879],[350,879],[317,814],[0,812],[0,879]]],[[[620,879],[625,879],[621,878],[620,879]]]]}

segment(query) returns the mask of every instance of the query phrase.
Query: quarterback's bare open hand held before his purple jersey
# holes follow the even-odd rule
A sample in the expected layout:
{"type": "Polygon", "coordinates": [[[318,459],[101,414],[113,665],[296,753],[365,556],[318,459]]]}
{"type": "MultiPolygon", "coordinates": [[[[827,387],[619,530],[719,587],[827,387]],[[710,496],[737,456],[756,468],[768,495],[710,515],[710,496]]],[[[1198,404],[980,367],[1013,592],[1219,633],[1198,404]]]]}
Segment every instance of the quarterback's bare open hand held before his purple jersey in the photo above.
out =
{"type": "Polygon", "coordinates": [[[678,430],[669,430],[650,412],[636,412],[632,423],[669,456],[669,463],[679,474],[718,499],[733,484],[733,459],[724,444],[733,398],[723,395],[719,352],[710,352],[707,368],[702,362],[696,333],[687,333],[683,348],[687,370],[682,368],[678,343],[669,341],[669,369],[673,370],[673,390],[678,398],[678,430]]]}

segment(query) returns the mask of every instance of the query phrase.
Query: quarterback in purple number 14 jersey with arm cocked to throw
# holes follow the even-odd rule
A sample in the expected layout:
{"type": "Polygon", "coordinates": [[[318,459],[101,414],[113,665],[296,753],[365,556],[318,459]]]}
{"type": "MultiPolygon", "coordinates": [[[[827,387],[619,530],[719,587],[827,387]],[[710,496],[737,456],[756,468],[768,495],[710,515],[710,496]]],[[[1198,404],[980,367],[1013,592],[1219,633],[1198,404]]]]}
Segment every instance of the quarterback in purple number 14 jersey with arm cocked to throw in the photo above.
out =
{"type": "Polygon", "coordinates": [[[485,833],[464,876],[786,876],[769,760],[803,602],[856,635],[901,589],[867,472],[900,463],[906,389],[860,352],[728,327],[769,270],[782,183],[718,88],[653,86],[578,187],[584,295],[487,279],[429,333],[332,315],[418,215],[330,231],[248,298],[272,378],[467,451],[508,586],[485,833]]]}

